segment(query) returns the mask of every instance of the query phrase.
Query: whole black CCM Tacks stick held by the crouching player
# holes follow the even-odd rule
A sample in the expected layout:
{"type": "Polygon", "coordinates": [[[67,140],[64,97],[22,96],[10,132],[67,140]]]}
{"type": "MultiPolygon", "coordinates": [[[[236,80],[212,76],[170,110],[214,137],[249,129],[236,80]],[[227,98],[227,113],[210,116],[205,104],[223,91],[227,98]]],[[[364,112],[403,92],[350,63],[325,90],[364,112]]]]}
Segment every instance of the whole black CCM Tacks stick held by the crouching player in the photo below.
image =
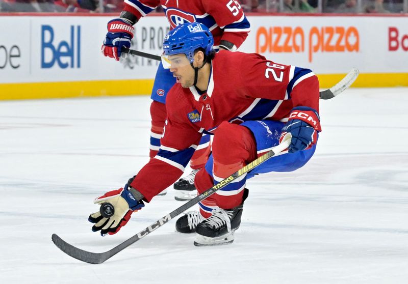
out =
{"type": "Polygon", "coordinates": [[[63,252],[65,252],[66,254],[70,255],[71,257],[73,257],[73,258],[75,258],[77,260],[87,262],[87,263],[92,263],[92,264],[103,263],[106,260],[113,257],[113,255],[115,255],[116,253],[122,251],[124,248],[130,246],[131,244],[137,242],[141,238],[143,238],[143,237],[147,236],[148,234],[150,234],[151,232],[155,231],[156,229],[158,229],[160,226],[162,226],[165,223],[167,223],[168,221],[170,221],[175,216],[183,213],[184,211],[186,211],[190,207],[196,205],[200,201],[205,200],[208,196],[214,194],[220,188],[223,188],[227,184],[229,184],[232,181],[236,180],[238,177],[248,173],[254,167],[262,164],[263,162],[265,162],[269,158],[278,155],[279,153],[281,153],[282,151],[284,151],[286,148],[289,147],[291,138],[292,138],[291,135],[287,134],[284,137],[281,144],[273,147],[266,154],[262,155],[261,157],[257,158],[256,160],[252,161],[251,163],[247,164],[243,168],[239,169],[238,172],[235,172],[231,176],[223,179],[221,182],[214,185],[212,188],[204,191],[199,196],[195,197],[194,199],[190,200],[189,202],[187,202],[184,205],[180,206],[179,208],[175,209],[174,211],[167,214],[163,218],[161,218],[161,219],[157,220],[156,222],[152,223],[147,228],[143,229],[142,231],[140,231],[139,233],[137,233],[136,235],[134,235],[130,239],[125,240],[124,242],[120,243],[119,245],[115,246],[114,248],[112,248],[112,249],[110,249],[110,250],[108,250],[106,252],[90,252],[90,251],[80,249],[78,247],[75,247],[75,246],[65,242],[63,239],[61,239],[56,234],[53,234],[52,240],[59,249],[61,249],[63,252]]]}

